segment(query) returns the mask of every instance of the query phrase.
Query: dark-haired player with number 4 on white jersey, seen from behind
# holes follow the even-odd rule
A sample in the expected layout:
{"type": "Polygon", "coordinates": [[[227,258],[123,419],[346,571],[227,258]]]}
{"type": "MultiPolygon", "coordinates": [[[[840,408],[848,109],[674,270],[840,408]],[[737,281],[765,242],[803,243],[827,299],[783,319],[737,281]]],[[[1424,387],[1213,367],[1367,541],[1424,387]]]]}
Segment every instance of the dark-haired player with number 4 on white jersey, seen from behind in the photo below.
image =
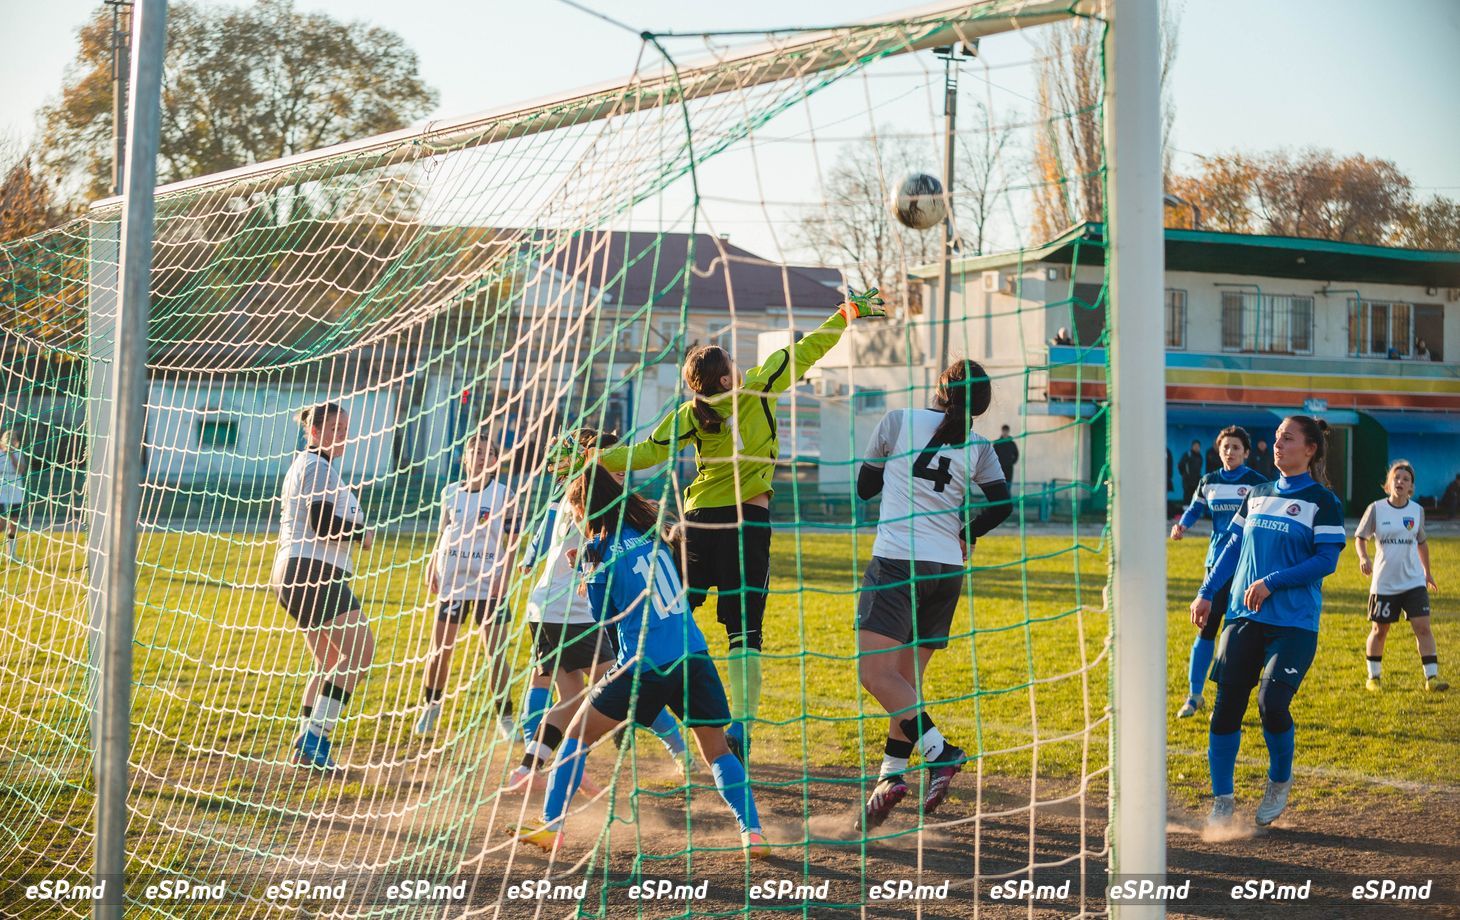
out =
{"type": "Polygon", "coordinates": [[[924,813],[943,803],[967,759],[933,724],[917,688],[933,653],[948,647],[974,540],[1012,510],[993,444],[971,429],[991,399],[984,368],[955,361],[937,381],[933,409],[899,409],[882,419],[857,475],[861,499],[882,494],[857,599],[857,669],[889,721],[861,828],[882,824],[907,796],[902,774],[914,748],[929,768],[924,813]],[[969,483],[983,491],[983,502],[975,504],[969,483]]]}

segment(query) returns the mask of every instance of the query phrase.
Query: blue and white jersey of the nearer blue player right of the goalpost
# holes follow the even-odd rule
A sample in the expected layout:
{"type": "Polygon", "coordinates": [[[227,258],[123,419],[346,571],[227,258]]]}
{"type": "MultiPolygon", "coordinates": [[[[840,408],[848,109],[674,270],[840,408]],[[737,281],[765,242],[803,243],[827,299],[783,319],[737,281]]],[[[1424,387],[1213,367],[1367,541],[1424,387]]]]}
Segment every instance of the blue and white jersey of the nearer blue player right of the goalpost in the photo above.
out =
{"type": "MultiPolygon", "coordinates": [[[[1241,553],[1232,575],[1226,616],[1317,632],[1323,575],[1295,580],[1280,572],[1299,565],[1305,567],[1299,572],[1308,571],[1307,567],[1324,552],[1336,558],[1343,548],[1343,502],[1339,497],[1307,473],[1292,480],[1264,482],[1247,494],[1242,507],[1232,515],[1229,533],[1240,534],[1241,553]],[[1257,580],[1266,580],[1273,593],[1261,603],[1261,610],[1253,612],[1242,603],[1242,596],[1257,580]]],[[[1333,568],[1327,567],[1327,571],[1333,568]]]]}

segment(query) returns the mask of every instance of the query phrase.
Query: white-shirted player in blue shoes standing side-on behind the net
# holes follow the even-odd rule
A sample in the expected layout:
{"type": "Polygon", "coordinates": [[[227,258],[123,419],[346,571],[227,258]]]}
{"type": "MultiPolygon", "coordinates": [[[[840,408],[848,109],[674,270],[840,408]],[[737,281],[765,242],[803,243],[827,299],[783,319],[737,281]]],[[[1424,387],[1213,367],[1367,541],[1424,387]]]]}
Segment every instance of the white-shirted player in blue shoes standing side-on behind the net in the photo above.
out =
{"type": "Polygon", "coordinates": [[[352,548],[375,542],[359,501],[334,469],[349,441],[349,416],[334,403],[299,415],[305,448],[283,478],[279,551],[270,581],[314,656],[304,691],[293,762],[333,770],[330,732],[375,657],[375,637],[350,590],[352,548]]]}

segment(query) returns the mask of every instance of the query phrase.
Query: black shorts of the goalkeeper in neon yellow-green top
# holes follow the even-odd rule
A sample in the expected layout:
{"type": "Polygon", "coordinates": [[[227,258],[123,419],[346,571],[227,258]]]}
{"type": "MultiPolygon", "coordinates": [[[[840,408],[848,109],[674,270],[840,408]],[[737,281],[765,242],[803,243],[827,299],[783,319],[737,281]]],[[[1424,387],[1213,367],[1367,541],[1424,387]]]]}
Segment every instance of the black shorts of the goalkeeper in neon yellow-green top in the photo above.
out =
{"type": "Polygon", "coordinates": [[[771,510],[761,505],[696,508],[685,513],[689,609],[718,590],[715,618],[731,645],[737,637],[761,647],[765,594],[771,583],[771,510]]]}

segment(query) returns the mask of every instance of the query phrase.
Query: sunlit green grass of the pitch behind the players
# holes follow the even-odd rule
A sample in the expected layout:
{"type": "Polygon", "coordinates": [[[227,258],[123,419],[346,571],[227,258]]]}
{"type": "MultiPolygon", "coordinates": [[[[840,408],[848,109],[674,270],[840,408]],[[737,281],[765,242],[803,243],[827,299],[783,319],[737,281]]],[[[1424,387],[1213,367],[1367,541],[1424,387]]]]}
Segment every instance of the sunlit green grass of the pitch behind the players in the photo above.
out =
{"type": "MultiPolygon", "coordinates": [[[[788,527],[778,532],[758,762],[838,777],[876,770],[886,721],[858,688],[853,626],[870,546],[867,534],[807,530],[797,540],[788,527]]],[[[1437,537],[1431,546],[1441,586],[1460,587],[1460,540],[1437,537]]],[[[0,572],[0,851],[22,854],[10,860],[19,872],[86,866],[83,553],[77,537],[63,534],[28,536],[23,551],[25,567],[0,572]]],[[[451,720],[437,737],[434,773],[399,781],[426,762],[406,735],[432,621],[419,577],[425,551],[423,537],[403,536],[362,559],[368,574],[356,590],[372,618],[377,663],[349,707],[342,745],[352,762],[371,768],[365,778],[324,786],[282,764],[310,662],[291,622],[257,587],[267,578],[267,536],[143,537],[133,691],[137,859],[152,866],[266,859],[291,851],[311,821],[365,832],[350,824],[362,813],[431,812],[402,844],[420,853],[469,834],[463,815],[489,810],[510,768],[486,716],[486,662],[474,644],[454,667],[451,720]]],[[[1171,546],[1168,710],[1186,692],[1193,635],[1186,605],[1203,551],[1202,539],[1171,546]]],[[[975,561],[972,603],[965,597],[953,641],[927,675],[924,695],[937,701],[939,724],[981,752],[986,774],[1057,784],[1099,775],[1108,759],[1105,546],[1094,536],[996,536],[980,542],[975,561]]],[[[1391,634],[1386,694],[1362,689],[1367,587],[1352,553],[1326,586],[1318,657],[1294,704],[1305,806],[1355,787],[1454,783],[1460,762],[1460,694],[1422,692],[1406,625],[1391,634]]],[[[1453,664],[1456,615],[1447,594],[1435,600],[1441,663],[1453,664]]],[[[723,654],[711,607],[699,622],[723,654]]],[[[512,654],[526,663],[524,631],[512,654]]],[[[1238,781],[1253,789],[1264,765],[1256,704],[1247,724],[1238,781]]],[[[1204,748],[1204,718],[1169,720],[1175,802],[1206,791],[1204,748]]]]}

